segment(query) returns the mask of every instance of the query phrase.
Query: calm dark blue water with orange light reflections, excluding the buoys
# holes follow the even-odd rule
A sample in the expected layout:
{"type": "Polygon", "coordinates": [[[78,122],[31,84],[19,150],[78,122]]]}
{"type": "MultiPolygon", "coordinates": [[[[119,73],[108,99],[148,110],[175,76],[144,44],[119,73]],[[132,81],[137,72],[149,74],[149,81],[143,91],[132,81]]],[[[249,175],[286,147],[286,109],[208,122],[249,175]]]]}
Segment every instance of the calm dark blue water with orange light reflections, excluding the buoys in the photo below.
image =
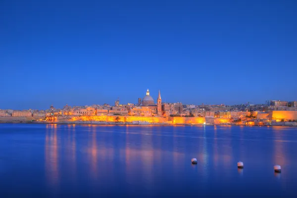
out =
{"type": "Polygon", "coordinates": [[[1,198],[190,196],[297,197],[297,128],[0,124],[1,198]]]}

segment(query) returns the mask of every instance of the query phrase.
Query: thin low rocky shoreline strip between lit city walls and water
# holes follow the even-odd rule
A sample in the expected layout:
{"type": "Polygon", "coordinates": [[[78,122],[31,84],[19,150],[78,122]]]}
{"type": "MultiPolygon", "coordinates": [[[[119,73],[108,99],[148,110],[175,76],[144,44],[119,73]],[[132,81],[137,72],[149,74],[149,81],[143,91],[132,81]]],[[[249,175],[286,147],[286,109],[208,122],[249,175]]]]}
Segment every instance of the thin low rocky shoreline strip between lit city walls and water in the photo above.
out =
{"type": "Polygon", "coordinates": [[[167,124],[167,123],[150,123],[150,124],[132,124],[123,122],[31,122],[15,121],[0,122],[0,124],[46,124],[46,125],[121,125],[121,126],[245,126],[245,127],[297,127],[293,125],[236,125],[236,124],[167,124]]]}

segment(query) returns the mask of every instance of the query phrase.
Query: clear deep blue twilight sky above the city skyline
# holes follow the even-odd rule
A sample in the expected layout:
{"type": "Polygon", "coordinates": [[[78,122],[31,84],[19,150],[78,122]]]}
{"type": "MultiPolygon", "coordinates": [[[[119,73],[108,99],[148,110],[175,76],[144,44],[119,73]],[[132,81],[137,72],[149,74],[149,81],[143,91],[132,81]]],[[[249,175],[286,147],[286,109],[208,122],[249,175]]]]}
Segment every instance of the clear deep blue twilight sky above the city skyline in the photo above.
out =
{"type": "Polygon", "coordinates": [[[0,0],[0,108],[297,100],[296,0],[0,0]]]}

